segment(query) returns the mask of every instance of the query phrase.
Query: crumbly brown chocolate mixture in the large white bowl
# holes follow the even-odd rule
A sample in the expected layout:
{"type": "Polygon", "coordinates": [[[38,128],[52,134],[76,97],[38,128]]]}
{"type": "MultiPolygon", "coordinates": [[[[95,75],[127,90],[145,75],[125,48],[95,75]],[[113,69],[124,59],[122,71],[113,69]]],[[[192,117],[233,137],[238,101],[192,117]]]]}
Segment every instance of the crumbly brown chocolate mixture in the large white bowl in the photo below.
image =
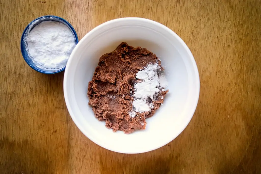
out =
{"type": "Polygon", "coordinates": [[[155,63],[161,67],[161,61],[155,54],[146,48],[134,48],[124,42],[111,53],[100,57],[88,85],[88,97],[95,117],[105,121],[107,128],[112,128],[114,132],[121,130],[126,134],[145,129],[145,118],[151,117],[161,106],[168,91],[159,92],[154,101],[149,101],[154,105],[151,111],[137,112],[135,117],[130,116],[133,110],[132,94],[138,81],[137,72],[155,63]]]}

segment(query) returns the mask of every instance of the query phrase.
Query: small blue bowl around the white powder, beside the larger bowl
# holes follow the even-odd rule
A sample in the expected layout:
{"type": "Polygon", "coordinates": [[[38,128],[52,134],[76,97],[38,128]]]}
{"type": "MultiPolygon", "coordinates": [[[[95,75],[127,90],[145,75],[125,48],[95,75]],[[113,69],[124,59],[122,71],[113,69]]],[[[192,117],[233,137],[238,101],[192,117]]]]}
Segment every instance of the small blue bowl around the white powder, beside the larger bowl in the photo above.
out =
{"type": "Polygon", "coordinates": [[[64,25],[66,25],[73,33],[74,38],[75,38],[75,44],[78,44],[78,37],[77,34],[73,28],[73,26],[67,22],[66,20],[64,20],[61,17],[58,16],[41,16],[38,17],[37,19],[33,20],[32,22],[29,23],[29,25],[27,25],[27,27],[25,28],[25,30],[23,31],[22,37],[21,37],[21,52],[23,55],[23,58],[25,59],[26,63],[35,71],[38,71],[40,73],[43,74],[55,74],[55,73],[59,73],[61,71],[63,71],[65,69],[66,66],[59,68],[59,69],[48,69],[48,68],[44,68],[43,66],[39,65],[37,62],[33,61],[32,57],[29,55],[28,50],[26,49],[27,46],[27,42],[26,42],[26,36],[27,34],[39,23],[43,22],[43,21],[57,21],[57,22],[61,22],[64,25]]]}

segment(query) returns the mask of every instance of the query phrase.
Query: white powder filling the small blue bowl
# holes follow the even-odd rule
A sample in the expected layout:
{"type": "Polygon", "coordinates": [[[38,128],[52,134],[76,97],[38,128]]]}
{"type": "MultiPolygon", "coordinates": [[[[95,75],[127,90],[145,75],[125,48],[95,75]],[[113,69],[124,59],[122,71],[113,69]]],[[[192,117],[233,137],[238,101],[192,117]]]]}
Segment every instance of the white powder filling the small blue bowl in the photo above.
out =
{"type": "Polygon", "coordinates": [[[76,45],[72,31],[56,21],[39,23],[25,39],[29,55],[47,69],[64,67],[76,45]]]}

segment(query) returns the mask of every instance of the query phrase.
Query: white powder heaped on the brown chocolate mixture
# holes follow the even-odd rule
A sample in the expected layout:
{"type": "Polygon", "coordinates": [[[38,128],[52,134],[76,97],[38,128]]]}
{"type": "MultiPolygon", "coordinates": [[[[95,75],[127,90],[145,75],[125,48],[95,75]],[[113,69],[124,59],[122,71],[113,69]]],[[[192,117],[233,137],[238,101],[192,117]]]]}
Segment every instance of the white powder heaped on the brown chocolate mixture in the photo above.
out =
{"type": "MultiPolygon", "coordinates": [[[[140,70],[136,74],[136,78],[140,79],[141,82],[138,82],[134,85],[134,101],[132,106],[135,112],[147,112],[150,111],[154,106],[148,100],[154,100],[155,93],[159,92],[159,89],[164,89],[163,86],[160,85],[160,79],[158,71],[160,68],[158,64],[149,64],[147,65],[144,70],[140,70]]],[[[160,73],[160,77],[162,78],[162,85],[166,85],[167,81],[164,74],[160,73]]]]}

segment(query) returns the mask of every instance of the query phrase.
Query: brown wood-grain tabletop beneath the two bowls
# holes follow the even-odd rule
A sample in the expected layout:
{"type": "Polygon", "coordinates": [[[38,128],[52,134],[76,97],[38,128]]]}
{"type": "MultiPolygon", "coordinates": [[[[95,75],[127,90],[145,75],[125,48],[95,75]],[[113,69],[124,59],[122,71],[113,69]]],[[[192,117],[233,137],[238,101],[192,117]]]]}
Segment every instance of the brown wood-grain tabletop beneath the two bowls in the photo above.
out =
{"type": "Polygon", "coordinates": [[[261,173],[260,0],[1,0],[0,173],[261,173]],[[200,75],[197,110],[174,141],[144,154],[91,142],[63,98],[63,73],[40,74],[23,60],[20,38],[33,19],[57,15],[79,39],[118,17],[171,28],[200,75]]]}

